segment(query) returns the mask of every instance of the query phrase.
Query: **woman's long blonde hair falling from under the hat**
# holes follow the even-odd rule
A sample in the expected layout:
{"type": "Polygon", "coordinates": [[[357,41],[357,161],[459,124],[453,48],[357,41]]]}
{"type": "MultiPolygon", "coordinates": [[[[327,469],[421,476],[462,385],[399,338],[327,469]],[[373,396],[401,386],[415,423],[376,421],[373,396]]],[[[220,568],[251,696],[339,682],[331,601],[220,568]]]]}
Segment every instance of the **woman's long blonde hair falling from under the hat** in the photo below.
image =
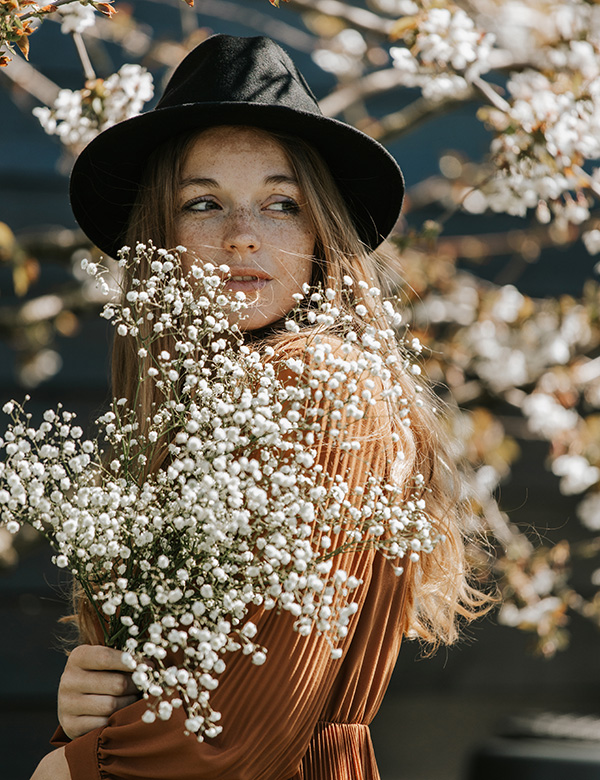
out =
{"type": "MultiPolygon", "coordinates": [[[[148,160],[129,229],[125,237],[130,246],[142,240],[151,240],[157,247],[172,247],[176,241],[174,224],[177,214],[176,193],[186,155],[200,131],[176,137],[159,147],[148,160]]],[[[366,294],[358,284],[386,290],[386,273],[397,278],[399,269],[393,257],[370,252],[361,243],[352,216],[330,171],[320,155],[301,139],[280,133],[269,133],[284,150],[305,197],[316,237],[313,280],[322,282],[338,292],[337,304],[346,311],[354,311],[342,295],[343,278],[353,282],[353,304],[363,303],[369,319],[380,327],[388,327],[381,298],[366,294]]],[[[144,274],[148,269],[138,269],[144,274]]],[[[131,280],[125,280],[125,293],[131,280]]],[[[346,285],[347,289],[347,285],[346,285]]],[[[270,343],[286,338],[271,334],[270,343]]],[[[168,349],[166,342],[158,342],[157,350],[168,349]]],[[[400,348],[399,348],[400,350],[400,348]]],[[[152,404],[152,385],[138,387],[139,357],[129,338],[115,339],[112,359],[113,397],[136,397],[140,424],[148,417],[152,404]]],[[[402,361],[399,361],[401,365],[402,361]]],[[[401,367],[395,369],[405,397],[414,398],[417,382],[401,367]]],[[[441,403],[433,392],[423,387],[419,379],[423,404],[411,405],[410,431],[414,442],[409,464],[409,476],[422,474],[428,491],[427,510],[435,518],[445,541],[434,551],[421,556],[410,567],[407,584],[406,609],[402,620],[405,634],[417,636],[433,646],[450,644],[458,637],[461,619],[472,620],[484,612],[491,599],[474,587],[471,567],[467,561],[467,528],[470,525],[469,504],[461,496],[462,478],[451,455],[448,434],[441,403]]],[[[399,410],[390,411],[392,427],[402,427],[399,410]],[[397,419],[394,419],[397,417],[397,419]]],[[[149,470],[160,468],[163,457],[156,456],[149,470]]],[[[404,471],[406,476],[406,470],[404,471]]],[[[89,605],[79,600],[80,627],[84,637],[93,636],[89,605]],[[87,616],[87,617],[86,617],[87,616]]]]}

